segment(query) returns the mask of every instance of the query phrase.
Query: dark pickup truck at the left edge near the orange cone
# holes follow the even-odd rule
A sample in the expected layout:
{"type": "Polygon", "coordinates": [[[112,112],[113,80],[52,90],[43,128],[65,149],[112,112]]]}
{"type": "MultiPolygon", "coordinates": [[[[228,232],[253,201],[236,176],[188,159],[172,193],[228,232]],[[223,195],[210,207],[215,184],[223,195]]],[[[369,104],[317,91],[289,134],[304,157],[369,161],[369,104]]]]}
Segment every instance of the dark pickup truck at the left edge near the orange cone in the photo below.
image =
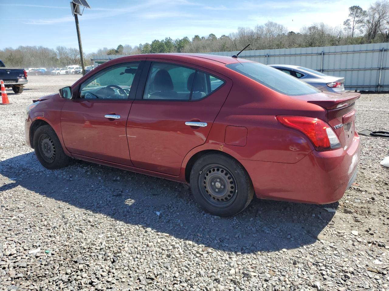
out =
{"type": "Polygon", "coordinates": [[[27,72],[23,68],[5,68],[0,60],[0,80],[4,81],[5,88],[12,88],[16,94],[23,92],[23,85],[27,84],[27,72]]]}

